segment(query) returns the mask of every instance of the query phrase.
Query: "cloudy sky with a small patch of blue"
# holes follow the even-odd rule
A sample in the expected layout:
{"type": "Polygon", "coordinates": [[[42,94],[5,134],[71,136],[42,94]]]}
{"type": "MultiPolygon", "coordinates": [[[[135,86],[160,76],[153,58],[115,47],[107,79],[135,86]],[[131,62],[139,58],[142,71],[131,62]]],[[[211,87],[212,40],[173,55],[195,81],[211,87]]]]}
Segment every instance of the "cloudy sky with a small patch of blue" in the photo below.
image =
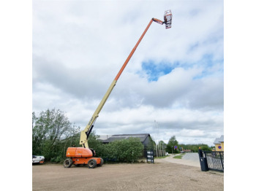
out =
{"type": "Polygon", "coordinates": [[[85,128],[152,17],[94,125],[213,145],[224,133],[223,1],[39,1],[32,5],[32,107],[85,128]]]}

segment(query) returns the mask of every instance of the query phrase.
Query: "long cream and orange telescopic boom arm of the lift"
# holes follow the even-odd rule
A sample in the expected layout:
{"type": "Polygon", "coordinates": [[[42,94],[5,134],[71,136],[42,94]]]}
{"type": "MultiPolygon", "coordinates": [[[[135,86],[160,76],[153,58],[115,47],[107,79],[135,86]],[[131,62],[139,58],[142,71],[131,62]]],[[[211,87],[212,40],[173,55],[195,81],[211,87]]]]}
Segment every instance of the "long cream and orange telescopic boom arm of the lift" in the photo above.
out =
{"type": "Polygon", "coordinates": [[[127,66],[127,63],[129,62],[129,59],[132,58],[133,53],[135,52],[136,48],[140,44],[141,39],[143,39],[143,36],[146,34],[146,31],[148,31],[148,28],[149,28],[149,26],[151,26],[151,23],[153,21],[156,22],[156,23],[159,23],[159,24],[166,23],[166,21],[158,20],[158,19],[155,19],[155,18],[152,18],[150,20],[150,22],[148,23],[148,26],[146,27],[145,31],[140,36],[140,39],[135,44],[135,47],[132,49],[132,52],[129,53],[129,56],[128,56],[127,60],[124,62],[123,66],[121,67],[120,71],[118,72],[118,74],[116,75],[115,79],[111,83],[110,87],[108,87],[108,91],[105,93],[104,97],[102,98],[102,101],[99,103],[99,106],[97,107],[96,111],[92,115],[91,120],[86,125],[86,128],[81,131],[81,134],[80,134],[80,144],[83,144],[84,148],[89,148],[88,138],[89,138],[89,135],[91,133],[92,128],[94,127],[95,120],[97,119],[97,117],[99,117],[99,112],[102,110],[102,107],[104,106],[105,102],[108,99],[108,96],[110,95],[110,93],[112,92],[113,88],[115,87],[118,78],[120,77],[121,73],[124,71],[124,68],[127,66]]]}

